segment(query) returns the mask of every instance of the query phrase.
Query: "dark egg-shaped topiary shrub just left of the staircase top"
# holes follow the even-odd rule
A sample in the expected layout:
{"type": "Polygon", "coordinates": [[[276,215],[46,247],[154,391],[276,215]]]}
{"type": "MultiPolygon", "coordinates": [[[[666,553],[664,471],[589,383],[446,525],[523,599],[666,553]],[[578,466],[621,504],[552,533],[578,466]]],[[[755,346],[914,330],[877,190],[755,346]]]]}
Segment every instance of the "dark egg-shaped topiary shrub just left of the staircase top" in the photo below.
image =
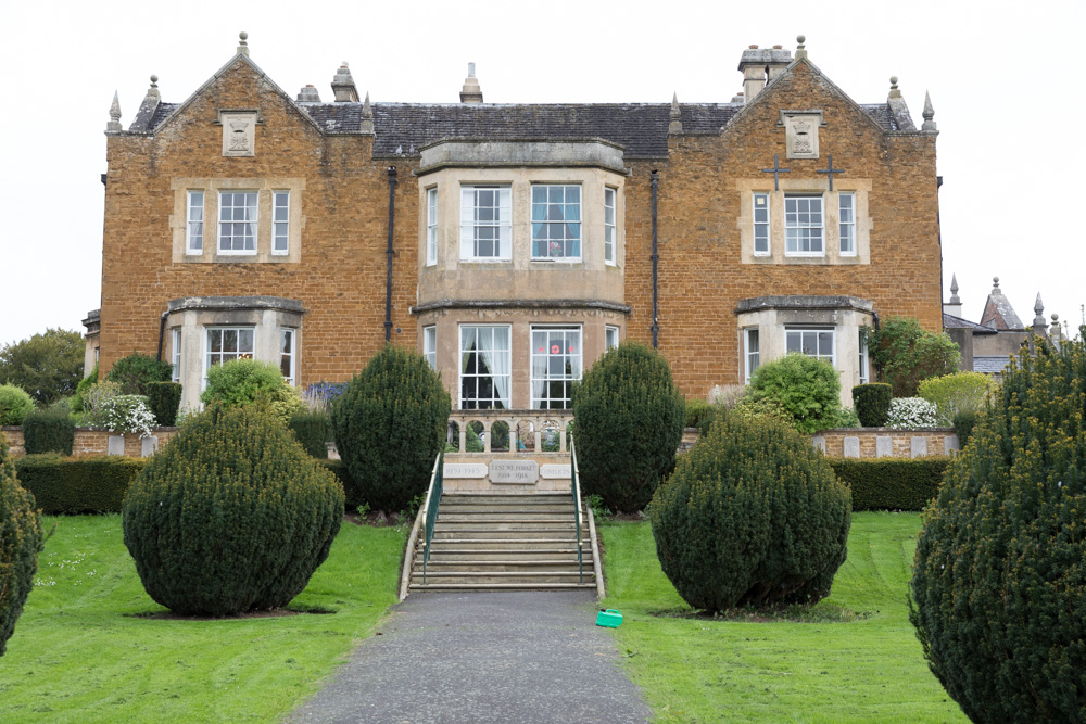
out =
{"type": "Polygon", "coordinates": [[[370,508],[403,510],[426,493],[451,408],[426,357],[393,344],[348,382],[332,403],[332,431],[370,508]]]}

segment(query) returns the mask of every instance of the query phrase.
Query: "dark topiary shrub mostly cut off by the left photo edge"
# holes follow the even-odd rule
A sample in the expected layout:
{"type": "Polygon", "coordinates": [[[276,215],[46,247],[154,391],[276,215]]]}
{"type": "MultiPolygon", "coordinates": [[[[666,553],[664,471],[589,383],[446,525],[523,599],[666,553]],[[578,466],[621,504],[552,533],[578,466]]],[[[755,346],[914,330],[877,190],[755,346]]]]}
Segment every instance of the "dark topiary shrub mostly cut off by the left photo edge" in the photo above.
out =
{"type": "Polygon", "coordinates": [[[0,656],[34,587],[41,548],[41,516],[34,496],[15,479],[8,439],[0,432],[0,656]]]}

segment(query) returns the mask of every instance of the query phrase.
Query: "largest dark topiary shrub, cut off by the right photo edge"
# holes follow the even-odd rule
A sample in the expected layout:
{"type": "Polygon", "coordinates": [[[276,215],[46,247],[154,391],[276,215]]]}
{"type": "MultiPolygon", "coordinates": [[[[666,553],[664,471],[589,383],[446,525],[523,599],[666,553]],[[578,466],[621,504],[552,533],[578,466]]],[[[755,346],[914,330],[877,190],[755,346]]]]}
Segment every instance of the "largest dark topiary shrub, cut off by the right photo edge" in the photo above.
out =
{"type": "Polygon", "coordinates": [[[1086,344],[1022,354],[990,404],[924,512],[911,619],[974,722],[1083,722],[1086,344]]]}

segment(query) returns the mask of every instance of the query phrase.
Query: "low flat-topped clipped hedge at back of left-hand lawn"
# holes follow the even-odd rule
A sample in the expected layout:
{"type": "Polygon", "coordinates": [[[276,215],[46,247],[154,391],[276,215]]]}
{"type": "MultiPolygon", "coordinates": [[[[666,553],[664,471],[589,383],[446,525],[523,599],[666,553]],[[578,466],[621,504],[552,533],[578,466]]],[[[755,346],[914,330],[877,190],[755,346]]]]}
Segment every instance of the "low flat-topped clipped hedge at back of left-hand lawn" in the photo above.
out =
{"type": "Polygon", "coordinates": [[[46,515],[121,512],[143,458],[27,455],[15,460],[20,483],[46,515]]]}

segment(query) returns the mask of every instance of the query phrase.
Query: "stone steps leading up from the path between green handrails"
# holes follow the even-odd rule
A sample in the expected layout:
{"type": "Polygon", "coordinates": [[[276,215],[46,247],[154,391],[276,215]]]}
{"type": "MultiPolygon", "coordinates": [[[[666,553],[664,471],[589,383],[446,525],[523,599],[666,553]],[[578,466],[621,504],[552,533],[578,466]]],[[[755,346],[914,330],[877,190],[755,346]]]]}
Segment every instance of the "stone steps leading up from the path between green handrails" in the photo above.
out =
{"type": "Polygon", "coordinates": [[[584,511],[579,575],[572,494],[446,493],[433,529],[426,582],[419,539],[409,589],[594,589],[586,516],[584,511]]]}

